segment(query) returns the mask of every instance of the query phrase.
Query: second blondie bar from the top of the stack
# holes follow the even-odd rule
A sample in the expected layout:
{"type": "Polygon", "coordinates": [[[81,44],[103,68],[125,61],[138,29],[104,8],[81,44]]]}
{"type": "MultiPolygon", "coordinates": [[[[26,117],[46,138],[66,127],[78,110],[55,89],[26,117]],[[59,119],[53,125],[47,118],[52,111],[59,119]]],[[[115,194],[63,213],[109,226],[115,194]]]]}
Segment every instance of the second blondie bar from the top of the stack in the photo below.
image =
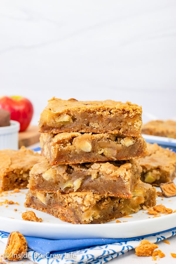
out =
{"type": "Polygon", "coordinates": [[[51,165],[127,160],[147,155],[145,139],[117,134],[41,133],[41,153],[51,165]]]}

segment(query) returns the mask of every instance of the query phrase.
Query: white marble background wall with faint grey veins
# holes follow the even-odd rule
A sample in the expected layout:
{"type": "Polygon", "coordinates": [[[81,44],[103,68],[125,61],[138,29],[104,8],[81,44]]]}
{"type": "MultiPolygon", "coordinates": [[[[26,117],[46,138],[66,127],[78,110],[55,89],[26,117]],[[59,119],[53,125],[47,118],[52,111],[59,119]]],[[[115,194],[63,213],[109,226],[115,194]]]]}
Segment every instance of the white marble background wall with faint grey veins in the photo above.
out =
{"type": "Polygon", "coordinates": [[[131,101],[176,119],[175,0],[0,0],[0,95],[131,101]]]}

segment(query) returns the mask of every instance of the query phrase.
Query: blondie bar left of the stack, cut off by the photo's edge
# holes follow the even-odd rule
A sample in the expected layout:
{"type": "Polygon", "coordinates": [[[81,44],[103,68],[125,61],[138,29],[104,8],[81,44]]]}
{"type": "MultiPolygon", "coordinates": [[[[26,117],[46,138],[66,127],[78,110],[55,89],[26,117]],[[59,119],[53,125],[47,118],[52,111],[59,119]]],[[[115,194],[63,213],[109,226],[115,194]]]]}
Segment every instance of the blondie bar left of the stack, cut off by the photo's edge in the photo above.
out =
{"type": "Polygon", "coordinates": [[[29,172],[44,157],[33,150],[0,150],[0,192],[27,188],[29,172]]]}

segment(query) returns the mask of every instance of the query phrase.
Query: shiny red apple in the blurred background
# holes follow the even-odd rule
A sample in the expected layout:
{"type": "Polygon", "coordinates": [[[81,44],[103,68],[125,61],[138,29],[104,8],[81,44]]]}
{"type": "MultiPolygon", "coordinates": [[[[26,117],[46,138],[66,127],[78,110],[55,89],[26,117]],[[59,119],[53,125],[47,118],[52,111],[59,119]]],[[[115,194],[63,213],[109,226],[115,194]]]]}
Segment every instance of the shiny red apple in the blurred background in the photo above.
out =
{"type": "Polygon", "coordinates": [[[11,120],[20,123],[20,132],[26,130],[33,117],[33,105],[30,100],[21,96],[0,97],[0,108],[11,113],[11,120]]]}

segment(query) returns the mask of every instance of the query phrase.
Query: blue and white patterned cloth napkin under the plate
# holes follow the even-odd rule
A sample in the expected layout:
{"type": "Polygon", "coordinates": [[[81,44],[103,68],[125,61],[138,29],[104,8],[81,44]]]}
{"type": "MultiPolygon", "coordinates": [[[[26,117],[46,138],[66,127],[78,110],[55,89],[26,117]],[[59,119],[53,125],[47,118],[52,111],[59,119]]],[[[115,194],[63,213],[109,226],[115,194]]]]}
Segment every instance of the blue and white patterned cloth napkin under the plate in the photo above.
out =
{"type": "MultiPolygon", "coordinates": [[[[9,233],[0,231],[0,241],[7,243],[9,233]]],[[[176,227],[135,238],[124,239],[61,239],[51,240],[26,236],[26,258],[41,264],[103,264],[136,248],[144,238],[151,243],[176,235],[176,227]]]]}

